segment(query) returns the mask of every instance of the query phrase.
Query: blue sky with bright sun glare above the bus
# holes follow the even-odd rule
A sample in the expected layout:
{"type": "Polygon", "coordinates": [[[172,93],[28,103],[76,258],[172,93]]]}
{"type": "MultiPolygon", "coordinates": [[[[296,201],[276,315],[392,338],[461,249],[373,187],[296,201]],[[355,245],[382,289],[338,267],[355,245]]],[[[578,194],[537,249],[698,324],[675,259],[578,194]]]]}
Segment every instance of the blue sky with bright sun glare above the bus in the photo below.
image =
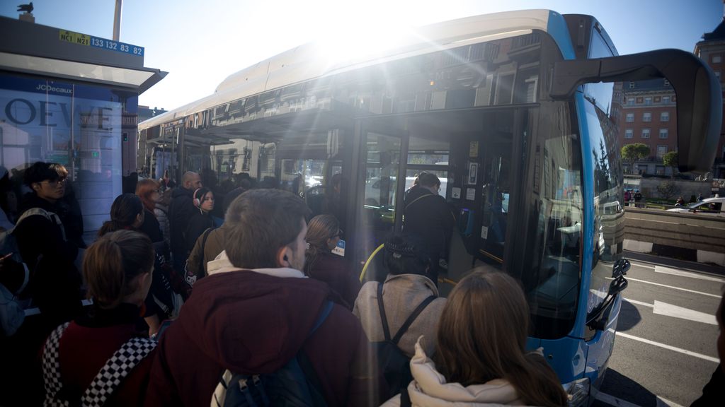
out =
{"type": "MultiPolygon", "coordinates": [[[[24,0],[0,0],[17,18],[24,0]]],[[[36,24],[113,38],[115,0],[34,0],[36,24]]],[[[308,41],[394,35],[402,28],[515,9],[591,14],[619,54],[692,51],[723,19],[722,0],[125,0],[120,41],[169,74],[138,104],[171,110],[214,93],[225,77],[308,41]]]]}

